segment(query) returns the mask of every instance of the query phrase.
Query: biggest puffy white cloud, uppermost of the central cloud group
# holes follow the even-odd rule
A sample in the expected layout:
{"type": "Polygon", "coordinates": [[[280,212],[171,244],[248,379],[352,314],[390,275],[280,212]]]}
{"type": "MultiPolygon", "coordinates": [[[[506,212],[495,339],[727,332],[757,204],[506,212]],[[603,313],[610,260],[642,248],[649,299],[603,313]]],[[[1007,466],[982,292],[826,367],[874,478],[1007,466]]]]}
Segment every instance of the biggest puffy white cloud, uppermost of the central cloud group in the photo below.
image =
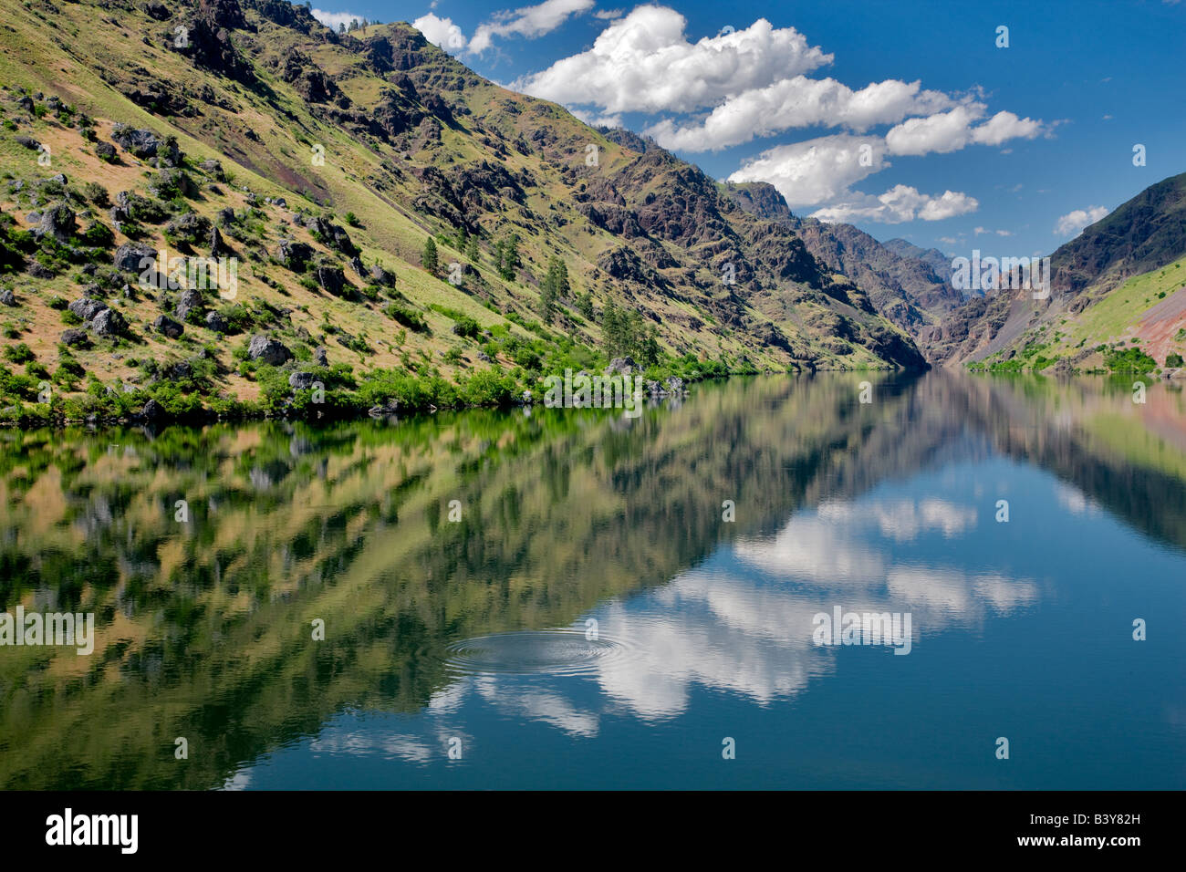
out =
{"type": "Polygon", "coordinates": [[[823,64],[833,56],[793,27],[758,19],[745,30],[689,43],[675,9],[639,6],[607,26],[588,51],[512,87],[566,106],[604,112],[691,112],[716,106],[823,64]]]}

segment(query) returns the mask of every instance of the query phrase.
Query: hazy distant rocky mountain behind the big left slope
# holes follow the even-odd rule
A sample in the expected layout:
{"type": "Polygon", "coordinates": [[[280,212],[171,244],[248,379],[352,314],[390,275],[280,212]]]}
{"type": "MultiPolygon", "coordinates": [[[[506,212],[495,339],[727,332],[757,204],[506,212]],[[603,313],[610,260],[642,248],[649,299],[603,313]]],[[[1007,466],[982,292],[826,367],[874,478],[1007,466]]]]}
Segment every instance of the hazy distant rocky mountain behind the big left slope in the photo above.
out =
{"type": "MultiPolygon", "coordinates": [[[[963,301],[963,295],[940,278],[945,273],[936,272],[925,259],[899,254],[852,224],[797,217],[771,184],[731,182],[722,187],[746,212],[795,230],[816,260],[855,282],[878,312],[911,335],[937,324],[963,301]]],[[[945,269],[950,272],[950,263],[945,269]]]]}

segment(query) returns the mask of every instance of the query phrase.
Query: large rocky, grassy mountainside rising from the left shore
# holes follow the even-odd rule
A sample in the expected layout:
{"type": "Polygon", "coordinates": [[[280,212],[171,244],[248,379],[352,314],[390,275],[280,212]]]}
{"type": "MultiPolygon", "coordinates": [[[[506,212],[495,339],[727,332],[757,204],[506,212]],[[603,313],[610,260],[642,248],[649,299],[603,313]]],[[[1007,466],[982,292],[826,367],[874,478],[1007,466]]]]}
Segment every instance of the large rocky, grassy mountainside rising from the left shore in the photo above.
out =
{"type": "Polygon", "coordinates": [[[0,50],[7,420],[499,403],[624,355],[925,367],[797,224],[407,24],[32,0],[0,50]],[[208,257],[237,280],[193,287],[208,257]]]}

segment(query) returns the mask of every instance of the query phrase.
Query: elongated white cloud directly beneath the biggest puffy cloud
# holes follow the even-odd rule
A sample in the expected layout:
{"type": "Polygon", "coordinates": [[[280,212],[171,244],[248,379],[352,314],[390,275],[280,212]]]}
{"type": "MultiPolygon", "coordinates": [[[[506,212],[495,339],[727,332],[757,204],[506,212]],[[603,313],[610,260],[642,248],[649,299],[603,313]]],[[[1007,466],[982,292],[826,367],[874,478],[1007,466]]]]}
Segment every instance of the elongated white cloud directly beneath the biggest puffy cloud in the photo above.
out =
{"type": "Polygon", "coordinates": [[[671,120],[664,120],[646,133],[665,148],[716,151],[796,127],[863,132],[907,115],[945,109],[951,102],[939,91],[920,90],[918,82],[887,79],[854,91],[834,78],[795,76],[726,100],[701,123],[677,128],[671,120]]]}

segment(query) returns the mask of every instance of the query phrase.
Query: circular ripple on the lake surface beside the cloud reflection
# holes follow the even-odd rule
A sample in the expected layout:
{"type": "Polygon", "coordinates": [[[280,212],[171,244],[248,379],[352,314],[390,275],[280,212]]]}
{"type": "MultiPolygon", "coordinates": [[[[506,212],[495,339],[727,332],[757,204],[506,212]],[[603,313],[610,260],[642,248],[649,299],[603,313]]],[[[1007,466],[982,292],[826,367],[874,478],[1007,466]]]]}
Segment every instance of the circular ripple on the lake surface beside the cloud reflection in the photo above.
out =
{"type": "Polygon", "coordinates": [[[579,630],[523,630],[478,636],[448,647],[446,664],[464,675],[587,675],[623,655],[618,642],[579,630]]]}

